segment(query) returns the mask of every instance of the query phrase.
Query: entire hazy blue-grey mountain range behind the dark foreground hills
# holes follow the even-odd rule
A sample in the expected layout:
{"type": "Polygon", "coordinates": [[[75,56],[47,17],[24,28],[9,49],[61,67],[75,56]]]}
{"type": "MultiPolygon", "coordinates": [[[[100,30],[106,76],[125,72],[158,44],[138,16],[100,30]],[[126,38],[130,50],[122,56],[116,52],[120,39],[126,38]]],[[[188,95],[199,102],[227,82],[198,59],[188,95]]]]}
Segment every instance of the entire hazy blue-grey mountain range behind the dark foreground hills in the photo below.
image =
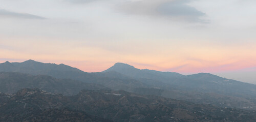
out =
{"type": "Polygon", "coordinates": [[[110,88],[199,104],[256,110],[256,85],[209,73],[182,75],[174,72],[140,70],[123,63],[116,63],[103,72],[87,73],[63,64],[45,64],[34,60],[2,63],[0,72],[3,74],[0,75],[0,83],[4,93],[15,93],[20,88],[37,87],[51,93],[75,95],[81,89],[110,88]],[[13,79],[15,77],[16,80],[13,79]],[[24,79],[18,79],[19,77],[24,79]]]}

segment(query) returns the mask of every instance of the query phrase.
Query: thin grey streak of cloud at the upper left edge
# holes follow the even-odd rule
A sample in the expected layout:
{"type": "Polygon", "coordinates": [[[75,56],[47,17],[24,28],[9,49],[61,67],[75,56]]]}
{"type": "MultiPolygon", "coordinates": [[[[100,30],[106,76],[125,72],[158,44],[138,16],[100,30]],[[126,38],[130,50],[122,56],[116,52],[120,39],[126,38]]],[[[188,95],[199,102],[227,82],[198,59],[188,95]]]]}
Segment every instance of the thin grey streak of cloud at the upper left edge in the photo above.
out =
{"type": "Polygon", "coordinates": [[[46,19],[44,17],[36,16],[33,14],[10,12],[10,11],[4,10],[4,9],[0,9],[0,17],[1,16],[25,18],[25,19],[46,19]]]}

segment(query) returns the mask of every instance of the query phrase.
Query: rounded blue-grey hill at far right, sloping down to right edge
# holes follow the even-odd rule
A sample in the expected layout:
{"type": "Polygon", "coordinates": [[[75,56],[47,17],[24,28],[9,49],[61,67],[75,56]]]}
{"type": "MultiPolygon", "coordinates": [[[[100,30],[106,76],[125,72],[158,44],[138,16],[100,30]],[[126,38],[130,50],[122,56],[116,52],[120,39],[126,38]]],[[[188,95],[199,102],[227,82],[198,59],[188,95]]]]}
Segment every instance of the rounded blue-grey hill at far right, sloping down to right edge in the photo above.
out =
{"type": "Polygon", "coordinates": [[[176,78],[170,84],[179,85],[180,89],[203,93],[216,93],[227,96],[256,98],[256,85],[222,78],[209,73],[199,73],[176,78]]]}

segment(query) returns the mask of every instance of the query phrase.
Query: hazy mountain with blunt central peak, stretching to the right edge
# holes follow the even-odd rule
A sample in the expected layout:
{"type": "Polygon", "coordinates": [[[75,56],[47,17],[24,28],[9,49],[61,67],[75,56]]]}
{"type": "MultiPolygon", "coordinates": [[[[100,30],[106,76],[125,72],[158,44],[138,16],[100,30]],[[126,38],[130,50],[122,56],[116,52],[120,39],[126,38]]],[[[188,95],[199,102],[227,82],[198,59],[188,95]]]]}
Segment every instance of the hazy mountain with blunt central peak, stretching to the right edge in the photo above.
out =
{"type": "Polygon", "coordinates": [[[123,63],[116,63],[103,72],[118,72],[151,86],[151,88],[134,89],[133,92],[138,94],[158,95],[222,107],[256,109],[256,85],[209,73],[180,75],[172,72],[140,70],[123,63]]]}

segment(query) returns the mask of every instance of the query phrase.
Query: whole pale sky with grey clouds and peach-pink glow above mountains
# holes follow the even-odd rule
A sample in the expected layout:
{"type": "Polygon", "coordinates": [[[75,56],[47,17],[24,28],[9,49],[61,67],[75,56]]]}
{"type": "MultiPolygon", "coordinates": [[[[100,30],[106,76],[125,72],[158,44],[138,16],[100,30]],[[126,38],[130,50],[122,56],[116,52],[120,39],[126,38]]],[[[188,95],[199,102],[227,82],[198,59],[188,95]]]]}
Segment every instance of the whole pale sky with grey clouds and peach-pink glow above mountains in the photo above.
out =
{"type": "Polygon", "coordinates": [[[256,84],[254,0],[0,0],[0,63],[200,72],[256,84]]]}

